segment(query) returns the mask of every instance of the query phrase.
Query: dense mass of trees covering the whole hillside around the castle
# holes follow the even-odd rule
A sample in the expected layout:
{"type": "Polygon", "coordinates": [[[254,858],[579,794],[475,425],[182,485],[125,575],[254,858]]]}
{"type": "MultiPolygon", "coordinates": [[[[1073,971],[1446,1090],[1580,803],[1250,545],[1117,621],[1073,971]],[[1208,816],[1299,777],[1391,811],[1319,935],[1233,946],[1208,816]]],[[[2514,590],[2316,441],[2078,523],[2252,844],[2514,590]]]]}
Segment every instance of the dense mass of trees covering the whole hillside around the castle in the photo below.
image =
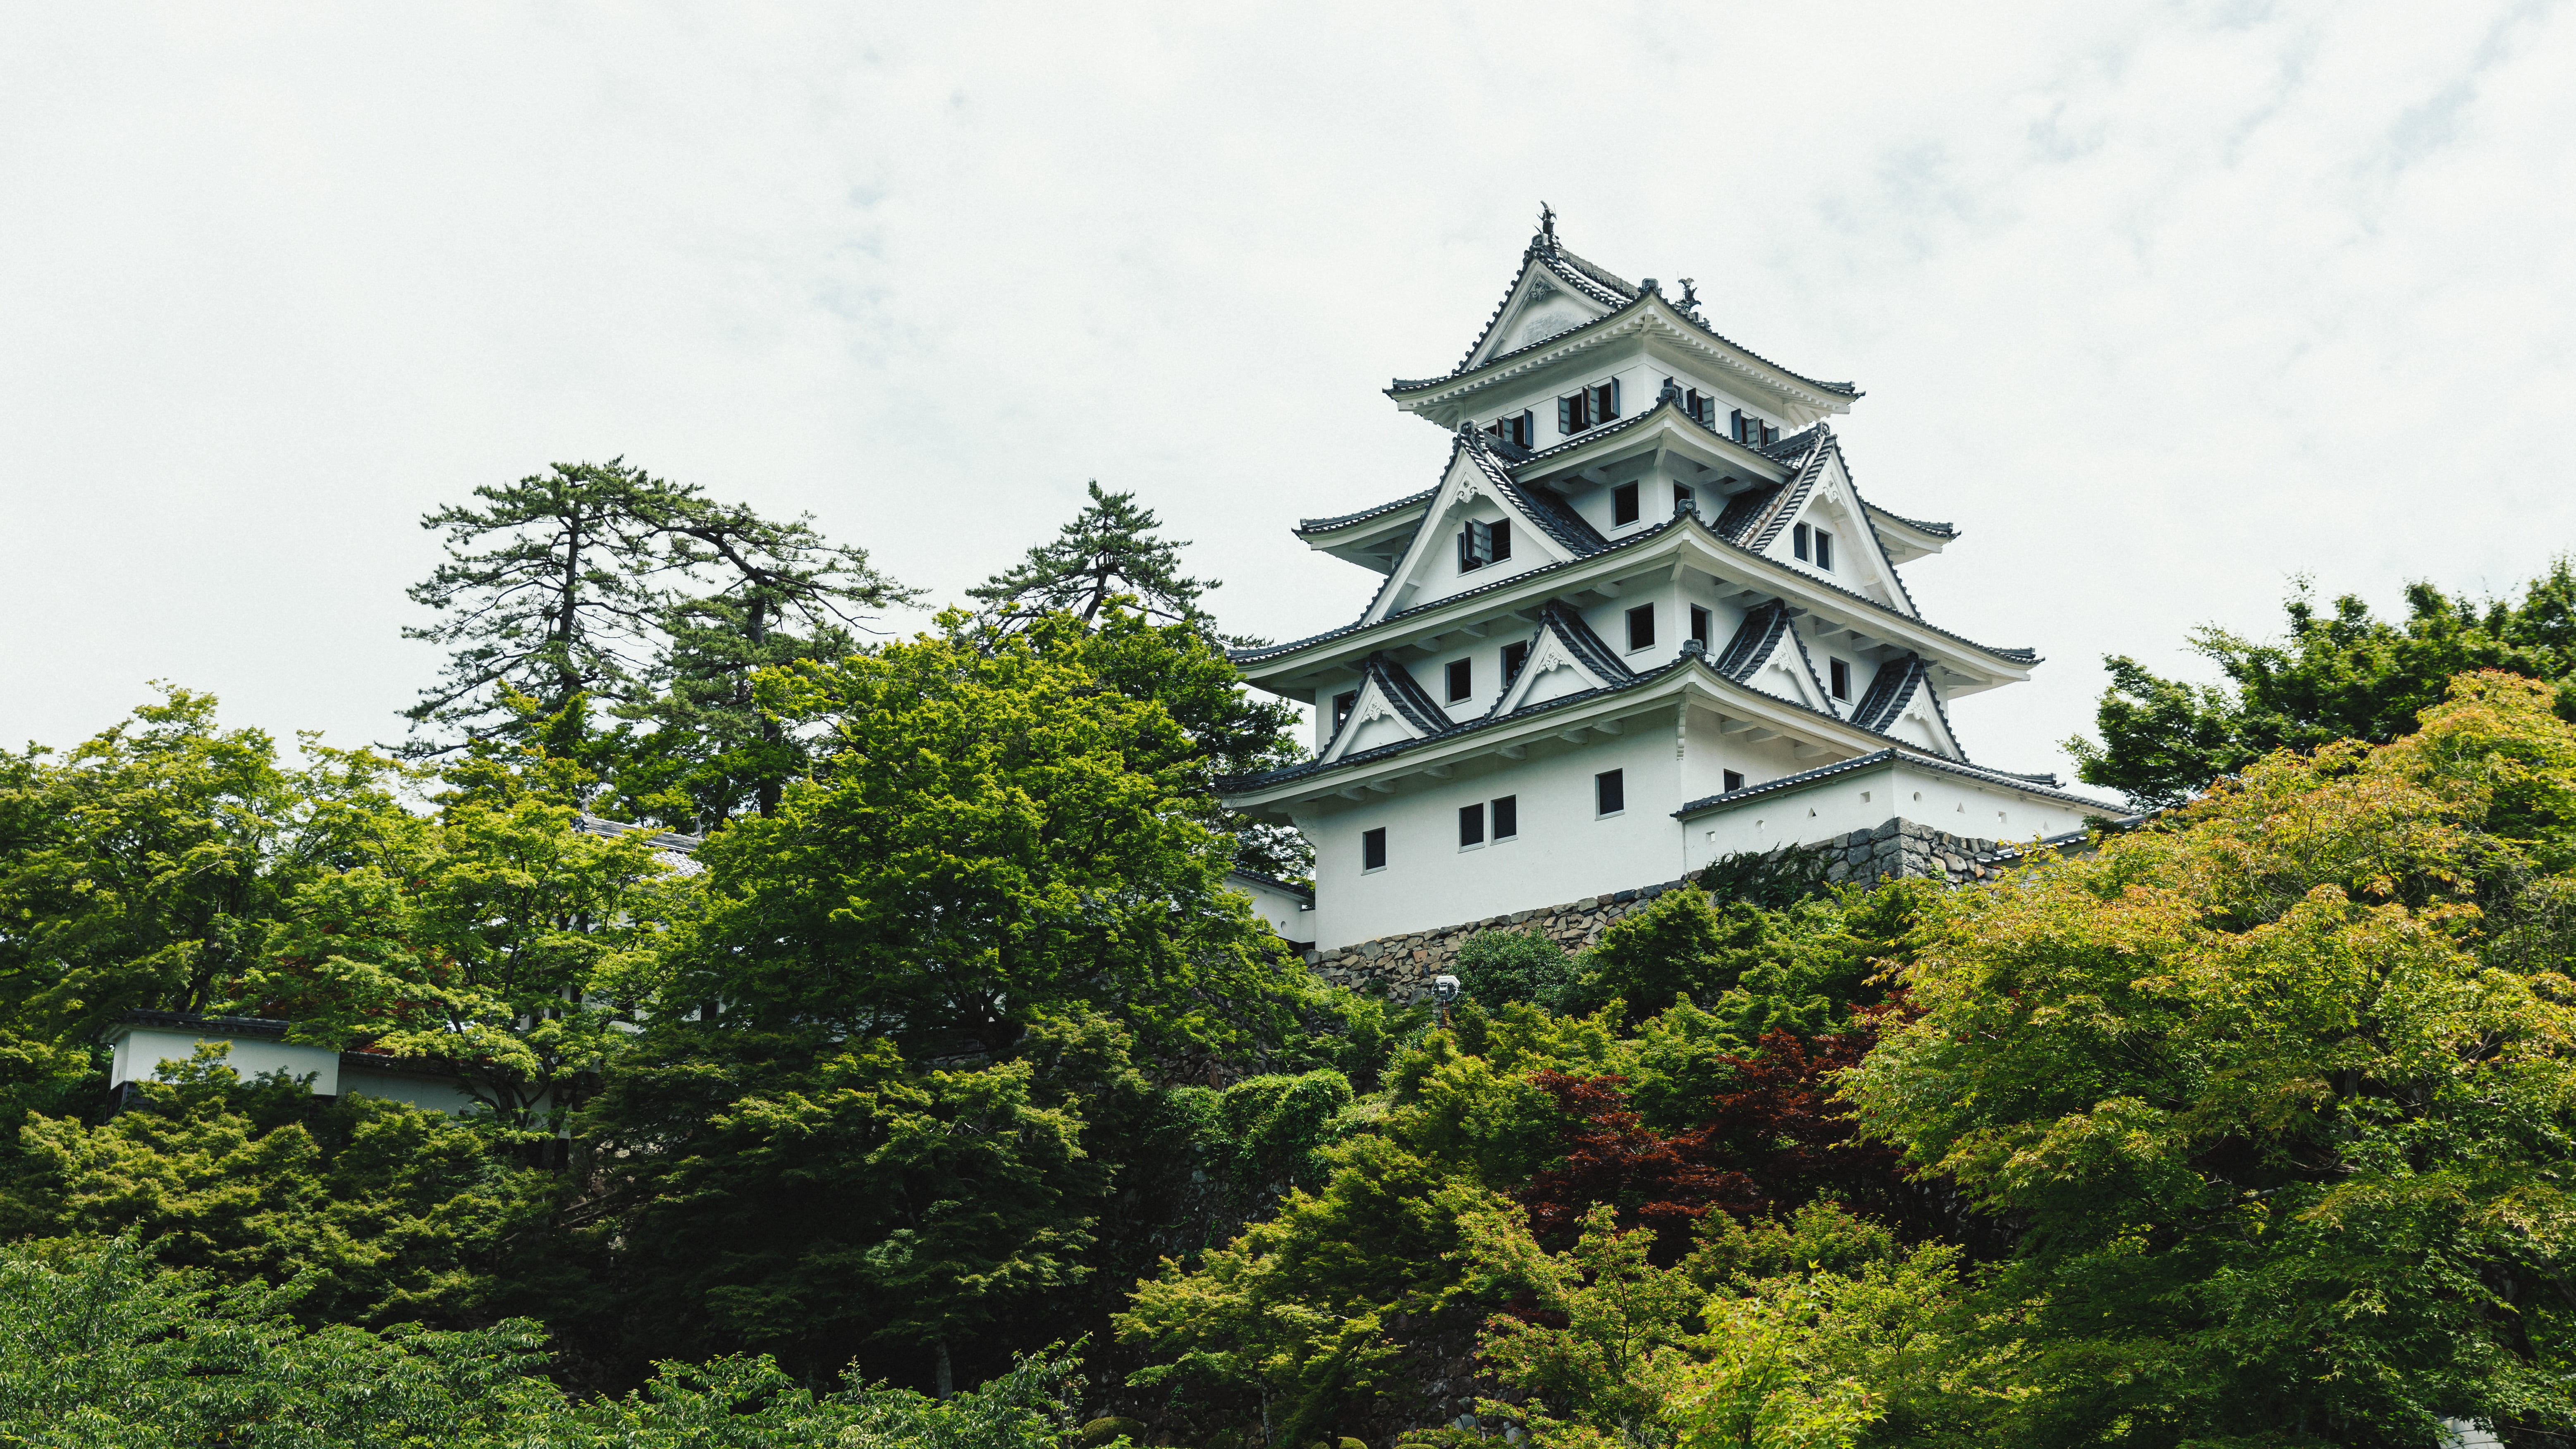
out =
{"type": "Polygon", "coordinates": [[[1226,890],[1298,864],[1213,792],[1291,719],[1126,495],[907,639],[626,464],[440,518],[435,763],[185,691],[0,758],[0,1441],[2576,1428],[2566,567],[2136,676],[2094,761],[2226,779],[2074,859],[1728,859],[1471,938],[1443,1013],[1226,890]],[[219,1049],[111,1098],[129,1011],[474,1106],[219,1049]]]}

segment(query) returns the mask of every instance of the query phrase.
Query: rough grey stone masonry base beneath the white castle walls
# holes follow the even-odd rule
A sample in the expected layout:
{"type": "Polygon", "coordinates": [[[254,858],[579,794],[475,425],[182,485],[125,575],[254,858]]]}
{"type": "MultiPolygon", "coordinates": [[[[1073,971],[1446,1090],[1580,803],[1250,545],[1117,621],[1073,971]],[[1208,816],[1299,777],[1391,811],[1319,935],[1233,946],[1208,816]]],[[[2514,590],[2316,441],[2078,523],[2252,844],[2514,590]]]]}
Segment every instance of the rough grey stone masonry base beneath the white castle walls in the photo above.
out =
{"type": "MultiPolygon", "coordinates": [[[[1999,846],[1994,841],[1950,835],[1914,820],[1888,820],[1875,830],[1852,830],[1850,835],[1834,835],[1814,846],[1837,856],[1826,866],[1826,879],[1832,882],[1937,877],[1950,884],[1971,884],[2020,864],[2030,851],[2030,846],[1999,846]]],[[[2084,848],[2084,841],[2048,841],[2048,846],[2084,848]]],[[[1306,964],[1329,985],[1370,987],[1383,982],[1388,995],[1419,1000],[1430,995],[1432,977],[1448,972],[1450,962],[1458,959],[1458,946],[1479,931],[1538,931],[1566,951],[1582,951],[1600,941],[1610,923],[1643,910],[1654,897],[1682,884],[1687,882],[1587,895],[1564,905],[1486,915],[1484,920],[1463,920],[1437,931],[1381,936],[1358,946],[1334,946],[1332,951],[1306,951],[1306,964]]]]}

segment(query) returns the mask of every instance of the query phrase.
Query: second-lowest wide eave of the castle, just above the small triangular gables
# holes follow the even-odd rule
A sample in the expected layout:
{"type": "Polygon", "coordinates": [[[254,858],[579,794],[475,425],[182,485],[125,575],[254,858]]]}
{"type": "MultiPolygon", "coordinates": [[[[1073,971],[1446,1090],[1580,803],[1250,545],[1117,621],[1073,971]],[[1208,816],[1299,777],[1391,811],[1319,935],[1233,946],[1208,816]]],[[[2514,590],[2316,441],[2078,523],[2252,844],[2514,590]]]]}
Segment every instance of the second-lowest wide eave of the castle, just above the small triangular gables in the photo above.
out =
{"type": "MultiPolygon", "coordinates": [[[[1726,570],[1723,578],[1736,578],[1741,580],[1744,588],[1759,588],[1772,598],[1785,598],[1790,606],[1801,611],[1814,611],[1819,603],[1832,603],[1837,606],[1837,611],[1868,619],[1873,624],[1868,634],[1886,637],[1893,645],[1904,645],[1917,655],[1924,655],[1924,660],[1929,663],[1953,668],[1953,673],[1963,673],[1960,670],[1963,663],[1976,663],[1978,673],[1991,676],[1978,688],[2007,681],[2027,681],[2030,670],[2043,663],[2035,650],[1996,650],[1991,645],[1978,645],[1976,639],[1963,639],[1947,629],[1924,624],[1922,619],[1914,619],[1888,603],[1880,603],[1862,593],[1852,593],[1850,588],[1824,583],[1821,578],[1814,578],[1808,572],[1798,572],[1772,557],[1747,549],[1744,544],[1723,539],[1716,529],[1708,526],[1705,518],[1695,513],[1685,518],[1667,518],[1664,523],[1656,523],[1654,529],[1641,529],[1625,539],[1613,539],[1610,547],[1597,554],[1535,567],[1528,572],[1515,572],[1512,578],[1494,580],[1484,588],[1471,588],[1466,593],[1453,593],[1448,598],[1417,603],[1404,614],[1391,614],[1376,624],[1345,624],[1342,629],[1332,629],[1327,634],[1314,634],[1306,639],[1291,639],[1285,645],[1270,645],[1262,650],[1234,650],[1229,652],[1229,657],[1249,683],[1270,688],[1265,681],[1280,681],[1293,673],[1329,668],[1337,660],[1388,647],[1391,639],[1401,642],[1404,637],[1412,634],[1437,634],[1445,629],[1455,629],[1458,624],[1471,624],[1481,616],[1492,616],[1497,611],[1525,608],[1533,598],[1571,593],[1589,583],[1633,572],[1638,565],[1654,565],[1662,559],[1662,552],[1659,549],[1641,552],[1641,547],[1649,541],[1664,541],[1672,547],[1674,554],[1690,549],[1692,544],[1705,547],[1713,552],[1716,559],[1734,565],[1726,570]],[[1690,526],[1682,529],[1682,523],[1690,526]]],[[[1716,570],[1703,570],[1703,572],[1716,572],[1716,570]]]]}

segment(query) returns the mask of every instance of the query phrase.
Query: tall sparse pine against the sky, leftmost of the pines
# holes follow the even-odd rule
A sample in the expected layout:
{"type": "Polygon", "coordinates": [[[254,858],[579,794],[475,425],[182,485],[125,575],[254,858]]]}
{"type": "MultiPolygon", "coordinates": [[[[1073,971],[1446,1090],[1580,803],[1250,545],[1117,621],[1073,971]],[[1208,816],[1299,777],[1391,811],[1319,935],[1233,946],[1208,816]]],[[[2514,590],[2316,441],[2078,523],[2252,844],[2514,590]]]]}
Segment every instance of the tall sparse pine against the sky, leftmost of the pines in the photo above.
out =
{"type": "Polygon", "coordinates": [[[538,714],[582,696],[631,704],[670,603],[654,521],[685,495],[608,459],[554,464],[477,487],[482,505],[425,513],[420,526],[446,531],[448,557],[410,596],[440,619],[402,637],[446,645],[448,663],[402,712],[415,730],[410,750],[435,755],[513,735],[526,719],[513,694],[533,699],[538,714]]]}

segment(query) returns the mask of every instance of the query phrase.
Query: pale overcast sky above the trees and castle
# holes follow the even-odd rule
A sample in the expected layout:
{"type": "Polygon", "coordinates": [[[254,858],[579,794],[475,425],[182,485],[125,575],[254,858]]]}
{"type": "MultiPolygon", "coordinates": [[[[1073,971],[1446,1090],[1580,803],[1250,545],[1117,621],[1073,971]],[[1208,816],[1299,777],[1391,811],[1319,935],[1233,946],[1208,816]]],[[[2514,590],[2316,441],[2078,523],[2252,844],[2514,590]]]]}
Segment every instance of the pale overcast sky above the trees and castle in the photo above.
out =
{"type": "MultiPolygon", "coordinates": [[[[1090,477],[1352,619],[1288,526],[1430,487],[1540,199],[1868,389],[1958,709],[2066,768],[2099,657],[2293,575],[2571,547],[2568,5],[0,8],[0,740],[167,678],[399,735],[422,511],[629,462],[953,598],[1090,477]]],[[[917,624],[917,621],[907,621],[917,624]]]]}

